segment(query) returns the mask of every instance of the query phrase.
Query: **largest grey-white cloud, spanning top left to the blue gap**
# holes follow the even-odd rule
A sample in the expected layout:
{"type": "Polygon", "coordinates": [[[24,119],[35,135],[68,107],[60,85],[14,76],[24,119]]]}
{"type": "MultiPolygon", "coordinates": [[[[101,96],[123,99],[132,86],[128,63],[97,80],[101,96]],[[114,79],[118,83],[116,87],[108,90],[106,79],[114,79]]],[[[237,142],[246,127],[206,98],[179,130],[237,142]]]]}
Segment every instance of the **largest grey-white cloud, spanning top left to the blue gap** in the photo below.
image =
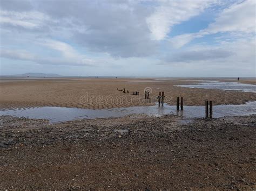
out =
{"type": "Polygon", "coordinates": [[[158,41],[173,25],[198,15],[216,1],[149,1],[156,6],[145,6],[145,1],[26,1],[26,6],[17,2],[22,11],[15,9],[17,3],[10,6],[5,2],[0,22],[44,38],[69,38],[93,52],[143,57],[157,53],[158,41]],[[55,9],[59,6],[61,9],[55,9]]]}

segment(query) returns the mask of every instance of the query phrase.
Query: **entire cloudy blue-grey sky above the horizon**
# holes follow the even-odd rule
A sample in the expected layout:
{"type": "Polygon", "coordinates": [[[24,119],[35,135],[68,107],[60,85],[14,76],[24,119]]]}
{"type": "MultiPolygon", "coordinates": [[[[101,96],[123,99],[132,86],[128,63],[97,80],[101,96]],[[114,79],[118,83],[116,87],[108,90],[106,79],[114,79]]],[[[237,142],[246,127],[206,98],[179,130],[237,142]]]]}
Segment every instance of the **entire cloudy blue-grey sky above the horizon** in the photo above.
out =
{"type": "Polygon", "coordinates": [[[255,0],[0,5],[0,75],[256,77],[255,0]]]}

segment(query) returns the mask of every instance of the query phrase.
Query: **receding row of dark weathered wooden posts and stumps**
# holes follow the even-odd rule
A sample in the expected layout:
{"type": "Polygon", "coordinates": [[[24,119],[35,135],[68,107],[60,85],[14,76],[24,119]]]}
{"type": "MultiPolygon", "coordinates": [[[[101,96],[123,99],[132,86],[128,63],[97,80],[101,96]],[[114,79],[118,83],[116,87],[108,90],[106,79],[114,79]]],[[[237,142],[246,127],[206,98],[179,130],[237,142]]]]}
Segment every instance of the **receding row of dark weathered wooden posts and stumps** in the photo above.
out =
{"type": "MultiPolygon", "coordinates": [[[[125,88],[124,89],[118,89],[118,91],[123,91],[124,94],[126,94],[125,88]]],[[[129,91],[127,90],[127,94],[129,94],[129,91]]],[[[133,91],[132,95],[139,95],[139,91],[133,91]]],[[[145,91],[145,100],[149,100],[150,91],[145,91]]],[[[164,105],[164,91],[159,91],[159,95],[157,97],[158,104],[164,105]]],[[[180,110],[183,110],[184,107],[184,99],[183,97],[177,97],[177,104],[176,109],[179,111],[179,103],[180,103],[180,110]]],[[[212,118],[212,101],[205,101],[205,118],[212,118]]]]}

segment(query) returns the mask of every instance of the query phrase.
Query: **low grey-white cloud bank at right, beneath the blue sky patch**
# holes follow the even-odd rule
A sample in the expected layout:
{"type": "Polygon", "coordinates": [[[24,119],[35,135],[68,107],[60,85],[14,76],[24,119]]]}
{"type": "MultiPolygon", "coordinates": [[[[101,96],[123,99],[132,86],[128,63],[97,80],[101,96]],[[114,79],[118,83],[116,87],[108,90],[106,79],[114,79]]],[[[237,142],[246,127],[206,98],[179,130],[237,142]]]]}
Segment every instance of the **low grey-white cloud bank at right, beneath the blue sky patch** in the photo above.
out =
{"type": "MultiPolygon", "coordinates": [[[[242,73],[247,76],[256,76],[255,70],[255,47],[256,40],[251,38],[240,38],[234,41],[221,41],[217,45],[195,45],[186,48],[176,49],[164,58],[162,65],[186,66],[193,73],[193,68],[200,67],[207,69],[225,68],[227,73],[238,75],[242,73]]],[[[214,74],[217,75],[217,74],[214,74]]],[[[222,74],[223,75],[223,74],[222,74]]],[[[218,76],[218,75],[217,75],[218,76]]],[[[232,75],[231,75],[232,76],[232,75]]]]}

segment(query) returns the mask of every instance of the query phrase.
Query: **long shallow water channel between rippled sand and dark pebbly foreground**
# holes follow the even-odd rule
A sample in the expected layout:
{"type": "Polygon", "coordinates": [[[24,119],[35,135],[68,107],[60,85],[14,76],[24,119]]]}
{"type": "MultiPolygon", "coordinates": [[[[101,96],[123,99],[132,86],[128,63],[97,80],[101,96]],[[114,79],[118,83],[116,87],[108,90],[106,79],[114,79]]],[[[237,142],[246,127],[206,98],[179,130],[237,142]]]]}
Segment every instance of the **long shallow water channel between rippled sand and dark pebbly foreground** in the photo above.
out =
{"type": "MultiPolygon", "coordinates": [[[[28,117],[36,119],[49,119],[51,123],[71,121],[74,119],[95,119],[109,117],[123,117],[131,114],[146,114],[151,116],[161,116],[173,114],[187,118],[204,117],[204,106],[186,106],[183,111],[176,111],[176,105],[164,106],[142,106],[113,109],[80,109],[62,107],[41,107],[0,110],[0,115],[12,115],[17,117],[28,117]]],[[[256,114],[256,101],[247,102],[241,105],[213,105],[213,117],[224,116],[244,116],[256,114]]]]}

